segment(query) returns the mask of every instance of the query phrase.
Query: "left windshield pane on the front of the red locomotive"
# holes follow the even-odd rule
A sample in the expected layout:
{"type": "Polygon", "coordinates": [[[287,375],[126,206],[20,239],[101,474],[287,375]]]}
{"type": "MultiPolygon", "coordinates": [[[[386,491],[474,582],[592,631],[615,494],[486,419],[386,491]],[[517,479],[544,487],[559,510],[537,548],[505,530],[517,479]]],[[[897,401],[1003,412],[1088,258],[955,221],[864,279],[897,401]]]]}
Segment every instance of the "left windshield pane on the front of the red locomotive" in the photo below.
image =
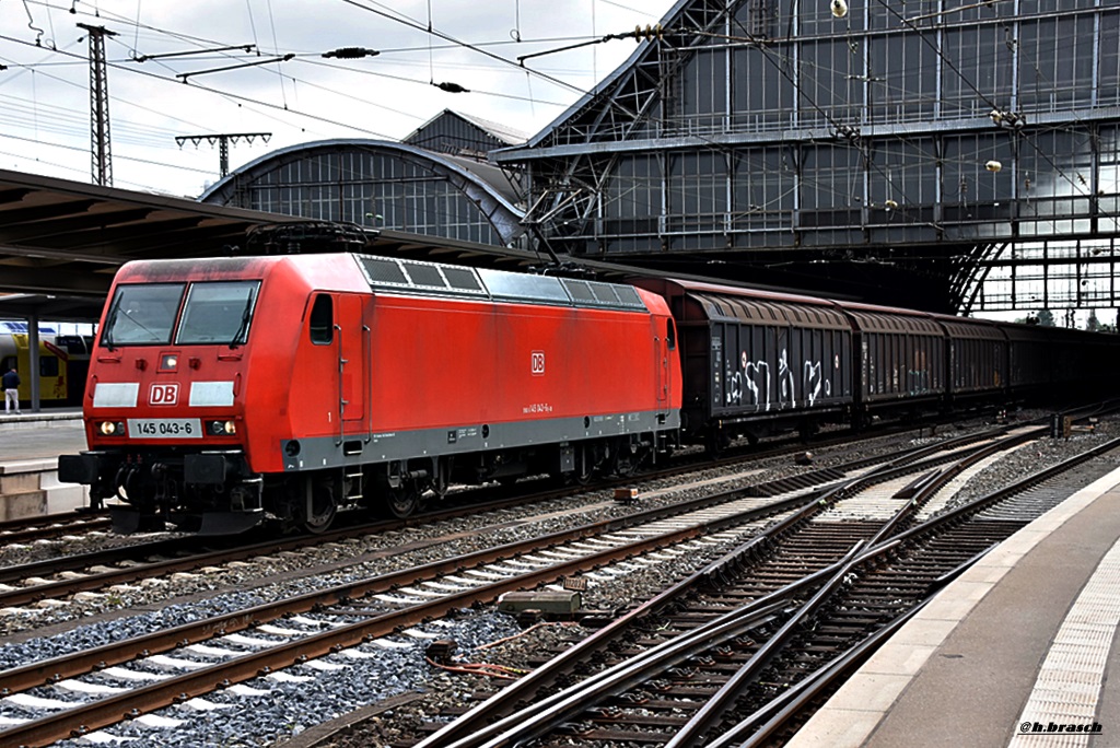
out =
{"type": "Polygon", "coordinates": [[[130,283],[120,286],[105,317],[101,344],[167,345],[183,299],[184,283],[130,283]]]}

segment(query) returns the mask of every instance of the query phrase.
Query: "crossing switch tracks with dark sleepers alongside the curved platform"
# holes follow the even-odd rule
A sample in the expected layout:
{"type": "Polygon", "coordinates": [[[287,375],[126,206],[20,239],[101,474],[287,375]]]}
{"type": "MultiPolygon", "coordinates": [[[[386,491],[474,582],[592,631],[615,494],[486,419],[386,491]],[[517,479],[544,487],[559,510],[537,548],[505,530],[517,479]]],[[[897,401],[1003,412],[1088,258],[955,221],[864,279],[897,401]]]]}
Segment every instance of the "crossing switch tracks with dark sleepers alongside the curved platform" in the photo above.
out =
{"type": "MultiPolygon", "coordinates": [[[[1118,447],[1109,442],[1090,457],[1118,447]]],[[[1085,458],[918,518],[920,505],[983,459],[972,454],[897,492],[894,503],[903,506],[888,518],[855,518],[850,507],[837,517],[844,503],[838,496],[828,508],[791,515],[466,716],[433,726],[419,746],[781,742],[775,736],[794,729],[878,637],[1068,495],[1064,486],[1035,486],[1085,458]],[[596,663],[590,674],[587,663],[596,663]],[[580,682],[566,685],[573,679],[580,682]]],[[[878,512],[867,504],[864,514],[878,512]]]]}

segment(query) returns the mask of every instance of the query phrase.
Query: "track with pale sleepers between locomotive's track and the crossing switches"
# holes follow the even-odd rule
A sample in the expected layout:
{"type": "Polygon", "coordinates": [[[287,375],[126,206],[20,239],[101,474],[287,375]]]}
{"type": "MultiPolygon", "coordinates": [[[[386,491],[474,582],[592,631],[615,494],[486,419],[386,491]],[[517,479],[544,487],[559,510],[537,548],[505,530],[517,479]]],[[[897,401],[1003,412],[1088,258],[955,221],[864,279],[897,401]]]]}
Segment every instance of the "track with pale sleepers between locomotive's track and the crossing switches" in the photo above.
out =
{"type": "MultiPolygon", "coordinates": [[[[912,469],[928,469],[944,459],[934,455],[945,448],[911,451],[903,459],[924,466],[912,469]]],[[[8,708],[0,719],[16,723],[0,731],[0,739],[46,745],[264,673],[314,663],[506,591],[609,564],[633,565],[659,551],[681,554],[706,543],[729,543],[757,531],[765,517],[815,501],[812,490],[787,499],[743,495],[749,493],[771,492],[740,489],[692,502],[687,512],[674,506],[640,513],[8,670],[0,673],[8,708]],[[188,672],[176,674],[176,668],[188,672]],[[137,681],[148,683],[134,688],[137,681]],[[68,695],[47,698],[44,688],[68,695]],[[82,703],[64,708],[74,694],[83,694],[82,703]],[[85,700],[93,695],[100,698],[85,700]],[[59,713],[37,716],[36,709],[59,713]]]]}

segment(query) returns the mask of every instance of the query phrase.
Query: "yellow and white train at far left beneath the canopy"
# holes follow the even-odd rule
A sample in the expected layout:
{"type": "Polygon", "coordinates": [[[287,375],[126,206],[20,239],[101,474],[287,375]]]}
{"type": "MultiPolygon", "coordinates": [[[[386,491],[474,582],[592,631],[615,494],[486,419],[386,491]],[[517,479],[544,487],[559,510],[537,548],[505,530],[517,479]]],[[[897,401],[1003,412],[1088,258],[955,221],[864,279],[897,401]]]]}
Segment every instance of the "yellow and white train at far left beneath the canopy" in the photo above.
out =
{"type": "MultiPolygon", "coordinates": [[[[31,349],[27,324],[0,321],[0,372],[19,373],[19,400],[31,402],[31,349]]],[[[39,326],[39,402],[45,406],[81,405],[90,372],[93,337],[62,335],[39,326]]]]}

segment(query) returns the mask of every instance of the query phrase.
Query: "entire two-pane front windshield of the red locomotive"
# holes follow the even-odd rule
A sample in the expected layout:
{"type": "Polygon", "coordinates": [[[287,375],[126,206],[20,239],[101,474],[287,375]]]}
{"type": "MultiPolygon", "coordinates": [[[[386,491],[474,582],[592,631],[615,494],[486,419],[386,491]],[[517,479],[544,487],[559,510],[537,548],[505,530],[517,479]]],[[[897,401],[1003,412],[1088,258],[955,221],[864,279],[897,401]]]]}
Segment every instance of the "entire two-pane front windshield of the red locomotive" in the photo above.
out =
{"type": "Polygon", "coordinates": [[[102,345],[168,345],[172,331],[176,345],[242,345],[249,337],[259,289],[260,281],[121,286],[105,321],[102,345]]]}

